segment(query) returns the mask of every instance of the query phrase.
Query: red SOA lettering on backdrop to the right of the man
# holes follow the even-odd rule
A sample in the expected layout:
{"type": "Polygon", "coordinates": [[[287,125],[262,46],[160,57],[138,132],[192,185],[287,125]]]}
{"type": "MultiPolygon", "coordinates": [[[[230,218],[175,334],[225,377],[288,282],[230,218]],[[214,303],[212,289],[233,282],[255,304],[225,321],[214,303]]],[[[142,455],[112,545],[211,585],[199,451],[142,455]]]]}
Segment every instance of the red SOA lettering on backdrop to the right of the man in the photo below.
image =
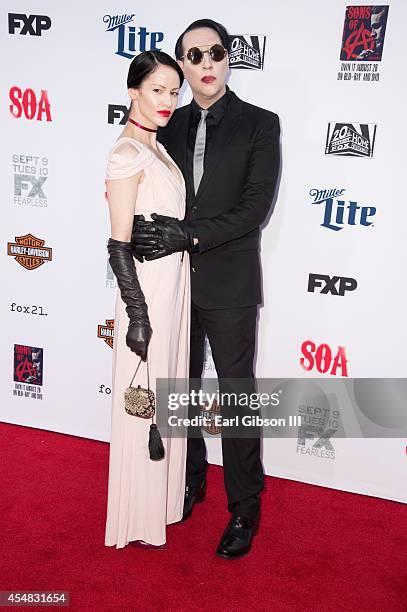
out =
{"type": "Polygon", "coordinates": [[[331,376],[336,376],[339,371],[340,376],[348,376],[348,360],[344,346],[338,346],[333,357],[334,352],[328,344],[317,346],[312,340],[304,340],[301,352],[300,364],[307,372],[311,372],[316,367],[320,374],[329,373],[331,376]]]}

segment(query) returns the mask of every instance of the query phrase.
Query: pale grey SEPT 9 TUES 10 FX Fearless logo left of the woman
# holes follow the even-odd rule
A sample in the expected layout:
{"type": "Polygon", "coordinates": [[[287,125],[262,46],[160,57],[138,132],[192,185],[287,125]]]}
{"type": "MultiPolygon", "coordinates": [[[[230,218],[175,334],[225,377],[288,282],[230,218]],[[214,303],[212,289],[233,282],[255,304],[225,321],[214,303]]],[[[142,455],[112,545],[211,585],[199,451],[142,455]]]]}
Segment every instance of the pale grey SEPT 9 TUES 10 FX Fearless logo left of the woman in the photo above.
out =
{"type": "Polygon", "coordinates": [[[48,206],[44,183],[48,178],[48,158],[39,155],[13,155],[14,203],[18,206],[48,206]]]}

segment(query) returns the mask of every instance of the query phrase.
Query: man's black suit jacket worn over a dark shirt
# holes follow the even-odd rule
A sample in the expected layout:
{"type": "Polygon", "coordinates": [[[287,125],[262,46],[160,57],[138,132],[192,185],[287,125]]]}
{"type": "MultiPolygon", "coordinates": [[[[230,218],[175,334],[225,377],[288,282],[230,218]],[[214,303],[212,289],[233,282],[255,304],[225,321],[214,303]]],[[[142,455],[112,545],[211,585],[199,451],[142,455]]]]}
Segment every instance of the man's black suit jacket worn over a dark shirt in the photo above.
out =
{"type": "Polygon", "coordinates": [[[186,220],[199,239],[191,253],[192,301],[206,309],[259,304],[259,226],[273,202],[280,165],[278,116],[234,93],[215,129],[197,194],[186,167],[190,105],[158,139],[181,169],[186,220]]]}

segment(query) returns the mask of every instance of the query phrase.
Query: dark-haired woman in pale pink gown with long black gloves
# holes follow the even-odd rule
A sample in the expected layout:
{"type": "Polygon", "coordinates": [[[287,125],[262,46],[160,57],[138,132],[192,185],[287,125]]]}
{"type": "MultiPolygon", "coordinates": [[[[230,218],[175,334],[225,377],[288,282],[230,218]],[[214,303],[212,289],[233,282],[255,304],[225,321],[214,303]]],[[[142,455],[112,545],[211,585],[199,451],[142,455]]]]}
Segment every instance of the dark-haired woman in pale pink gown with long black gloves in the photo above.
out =
{"type": "MultiPolygon", "coordinates": [[[[148,356],[150,388],[157,378],[186,380],[189,368],[190,269],[188,253],[153,261],[131,254],[134,215],[156,212],[183,219],[182,174],[156,141],[175,110],[181,69],[170,56],[147,51],[131,63],[129,122],[108,157],[106,185],[111,220],[110,263],[119,290],[113,346],[112,433],[106,546],[129,542],[163,546],[166,525],[182,518],[186,440],[163,436],[164,458],[150,459],[150,423],[126,413],[124,391],[140,356],[148,356]]],[[[147,387],[142,361],[133,386],[147,387]]]]}

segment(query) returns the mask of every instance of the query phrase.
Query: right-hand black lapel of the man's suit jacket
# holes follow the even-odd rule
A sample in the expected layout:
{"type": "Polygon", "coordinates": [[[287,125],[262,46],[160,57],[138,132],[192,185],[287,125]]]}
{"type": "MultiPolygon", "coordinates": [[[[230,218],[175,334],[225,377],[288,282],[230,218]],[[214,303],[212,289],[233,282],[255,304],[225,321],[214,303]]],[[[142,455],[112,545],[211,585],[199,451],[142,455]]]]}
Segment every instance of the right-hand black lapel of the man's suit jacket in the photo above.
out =
{"type": "MultiPolygon", "coordinates": [[[[222,163],[222,152],[232,139],[241,118],[242,102],[232,93],[231,100],[226,109],[219,127],[215,129],[211,147],[205,160],[204,173],[199,184],[196,199],[199,199],[208,185],[211,175],[215,168],[222,163]]],[[[193,187],[193,186],[192,186],[193,187]]]]}

